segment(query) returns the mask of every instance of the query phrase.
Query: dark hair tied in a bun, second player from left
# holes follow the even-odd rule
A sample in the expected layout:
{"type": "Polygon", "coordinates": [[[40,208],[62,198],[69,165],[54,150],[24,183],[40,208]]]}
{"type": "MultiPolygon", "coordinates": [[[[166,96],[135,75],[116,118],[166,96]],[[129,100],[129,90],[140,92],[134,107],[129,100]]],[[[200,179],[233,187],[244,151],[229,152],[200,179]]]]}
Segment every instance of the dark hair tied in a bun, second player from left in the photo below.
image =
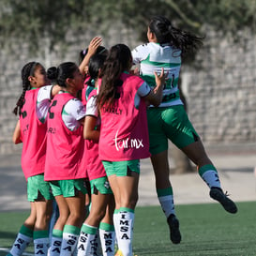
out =
{"type": "Polygon", "coordinates": [[[47,77],[62,87],[67,87],[66,80],[74,78],[74,72],[77,70],[74,62],[64,62],[56,67],[47,69],[47,77]]]}

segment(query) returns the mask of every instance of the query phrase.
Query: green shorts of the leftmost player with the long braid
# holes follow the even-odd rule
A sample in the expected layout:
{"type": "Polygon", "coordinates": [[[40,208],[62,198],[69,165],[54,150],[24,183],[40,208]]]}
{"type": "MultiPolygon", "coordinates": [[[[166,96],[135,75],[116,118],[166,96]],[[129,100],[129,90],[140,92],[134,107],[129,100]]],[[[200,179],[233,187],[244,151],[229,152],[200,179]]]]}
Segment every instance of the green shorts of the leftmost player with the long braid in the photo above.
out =
{"type": "Polygon", "coordinates": [[[53,193],[49,182],[44,181],[43,173],[29,177],[27,179],[27,200],[29,202],[37,202],[53,200],[53,193]]]}

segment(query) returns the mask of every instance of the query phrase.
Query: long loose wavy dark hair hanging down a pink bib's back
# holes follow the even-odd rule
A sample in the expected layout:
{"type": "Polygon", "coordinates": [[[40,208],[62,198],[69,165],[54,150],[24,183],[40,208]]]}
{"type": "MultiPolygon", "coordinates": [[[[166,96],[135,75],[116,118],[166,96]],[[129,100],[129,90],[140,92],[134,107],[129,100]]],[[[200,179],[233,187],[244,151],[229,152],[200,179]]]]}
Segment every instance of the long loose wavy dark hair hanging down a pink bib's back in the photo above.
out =
{"type": "Polygon", "coordinates": [[[102,82],[97,97],[98,109],[104,104],[113,106],[117,87],[122,84],[120,75],[130,68],[131,60],[132,56],[127,45],[116,44],[111,48],[102,68],[102,82]]]}

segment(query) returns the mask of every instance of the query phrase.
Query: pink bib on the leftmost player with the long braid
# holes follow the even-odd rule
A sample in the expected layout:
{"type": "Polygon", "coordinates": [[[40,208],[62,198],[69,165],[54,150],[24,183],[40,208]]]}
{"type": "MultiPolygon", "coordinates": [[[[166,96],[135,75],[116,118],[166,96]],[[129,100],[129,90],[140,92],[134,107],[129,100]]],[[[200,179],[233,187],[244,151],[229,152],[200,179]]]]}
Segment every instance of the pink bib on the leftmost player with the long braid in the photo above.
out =
{"type": "Polygon", "coordinates": [[[22,168],[25,178],[44,173],[47,124],[38,120],[38,89],[26,91],[20,115],[23,141],[22,168]]]}

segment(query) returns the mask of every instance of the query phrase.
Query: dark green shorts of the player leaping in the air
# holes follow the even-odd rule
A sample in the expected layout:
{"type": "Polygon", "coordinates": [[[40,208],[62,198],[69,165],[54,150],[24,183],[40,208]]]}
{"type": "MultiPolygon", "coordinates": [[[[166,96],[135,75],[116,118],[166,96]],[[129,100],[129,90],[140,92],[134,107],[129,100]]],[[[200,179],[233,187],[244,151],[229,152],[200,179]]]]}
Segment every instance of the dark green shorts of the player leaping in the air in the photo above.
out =
{"type": "Polygon", "coordinates": [[[167,150],[168,139],[180,149],[200,140],[183,105],[149,108],[147,123],[152,155],[167,150]]]}

